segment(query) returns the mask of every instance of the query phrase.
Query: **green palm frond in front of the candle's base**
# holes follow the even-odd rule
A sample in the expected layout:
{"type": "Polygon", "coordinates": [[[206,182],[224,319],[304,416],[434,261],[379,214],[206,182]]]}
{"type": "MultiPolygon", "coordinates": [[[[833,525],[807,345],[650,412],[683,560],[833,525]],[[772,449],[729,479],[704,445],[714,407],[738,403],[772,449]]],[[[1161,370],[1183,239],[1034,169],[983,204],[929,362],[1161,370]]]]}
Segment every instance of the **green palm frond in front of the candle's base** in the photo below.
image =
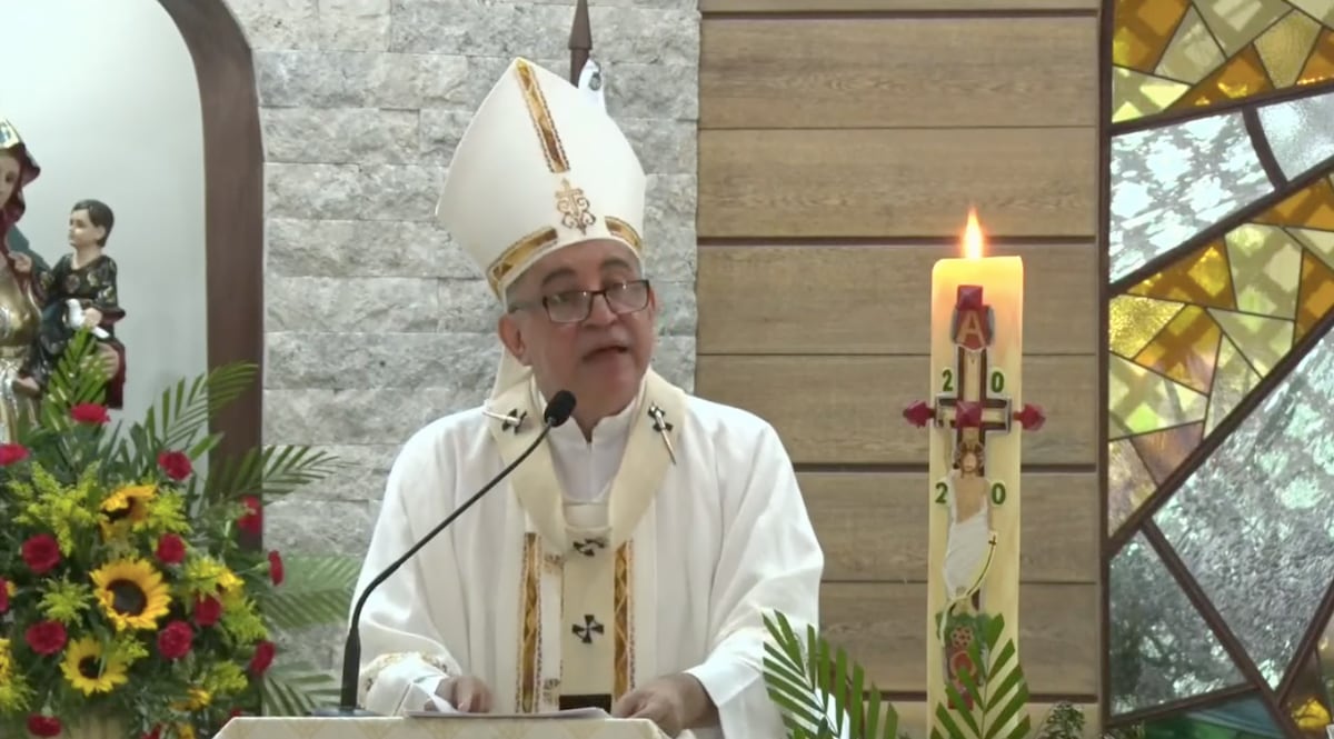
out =
{"type": "Polygon", "coordinates": [[[968,644],[968,658],[976,666],[959,671],[962,688],[946,683],[948,706],[935,707],[940,730],[931,739],[1023,739],[1033,731],[1026,711],[1029,684],[1019,664],[1014,639],[1000,642],[1003,616],[979,616],[980,639],[968,644]]]}

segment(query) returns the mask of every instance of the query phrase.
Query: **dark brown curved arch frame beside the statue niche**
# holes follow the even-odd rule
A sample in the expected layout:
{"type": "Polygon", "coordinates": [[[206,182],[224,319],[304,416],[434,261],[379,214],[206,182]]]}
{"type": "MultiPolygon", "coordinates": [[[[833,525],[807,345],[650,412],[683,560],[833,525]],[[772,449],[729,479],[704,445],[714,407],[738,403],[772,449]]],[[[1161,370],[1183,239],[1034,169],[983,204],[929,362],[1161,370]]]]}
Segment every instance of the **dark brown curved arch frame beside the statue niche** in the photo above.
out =
{"type": "MultiPolygon", "coordinates": [[[[224,0],[159,0],[199,80],[204,123],[208,365],[264,360],[264,148],[249,44],[224,0]]],[[[263,376],[263,372],[261,372],[263,376]]],[[[261,383],[215,424],[219,451],[260,443],[261,383]]]]}

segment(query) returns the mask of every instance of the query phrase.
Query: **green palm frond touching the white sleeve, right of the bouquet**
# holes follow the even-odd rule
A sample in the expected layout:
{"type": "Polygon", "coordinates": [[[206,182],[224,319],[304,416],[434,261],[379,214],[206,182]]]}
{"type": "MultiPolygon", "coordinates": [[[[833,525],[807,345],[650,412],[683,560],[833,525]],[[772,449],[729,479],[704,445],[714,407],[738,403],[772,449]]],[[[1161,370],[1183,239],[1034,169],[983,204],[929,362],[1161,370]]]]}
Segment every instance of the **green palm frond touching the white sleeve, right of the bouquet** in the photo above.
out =
{"type": "Polygon", "coordinates": [[[287,555],[287,579],[260,608],[279,631],[301,631],[342,623],[362,572],[359,559],[346,555],[287,555]]]}

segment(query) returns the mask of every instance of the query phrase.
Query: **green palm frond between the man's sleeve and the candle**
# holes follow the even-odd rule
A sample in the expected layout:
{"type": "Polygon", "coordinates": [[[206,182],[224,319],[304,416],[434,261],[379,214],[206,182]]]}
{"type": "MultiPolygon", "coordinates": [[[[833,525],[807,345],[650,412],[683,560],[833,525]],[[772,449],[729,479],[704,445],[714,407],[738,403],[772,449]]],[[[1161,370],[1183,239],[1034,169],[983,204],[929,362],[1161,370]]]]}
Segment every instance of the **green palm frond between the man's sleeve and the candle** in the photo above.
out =
{"type": "Polygon", "coordinates": [[[814,626],[798,636],[782,612],[764,615],[764,683],[788,739],[899,736],[898,712],[843,648],[834,650],[814,626]]]}

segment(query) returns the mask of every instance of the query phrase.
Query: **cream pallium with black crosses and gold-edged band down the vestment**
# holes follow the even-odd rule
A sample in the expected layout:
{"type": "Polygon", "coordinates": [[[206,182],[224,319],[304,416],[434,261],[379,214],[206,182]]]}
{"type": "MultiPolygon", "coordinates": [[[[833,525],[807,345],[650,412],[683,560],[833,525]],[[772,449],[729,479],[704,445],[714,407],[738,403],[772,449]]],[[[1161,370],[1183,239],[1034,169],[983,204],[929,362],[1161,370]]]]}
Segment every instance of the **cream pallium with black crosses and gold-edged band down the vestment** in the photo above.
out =
{"type": "MultiPolygon", "coordinates": [[[[491,436],[506,464],[542,431],[531,383],[488,403],[491,436]]],[[[611,491],[599,503],[566,503],[539,446],[510,476],[527,514],[519,579],[518,712],[600,704],[634,688],[634,532],[662,486],[686,416],[686,394],[648,370],[635,399],[630,439],[611,491]],[[566,700],[563,700],[563,698],[566,700]]],[[[572,423],[572,422],[571,422],[572,423]]]]}

